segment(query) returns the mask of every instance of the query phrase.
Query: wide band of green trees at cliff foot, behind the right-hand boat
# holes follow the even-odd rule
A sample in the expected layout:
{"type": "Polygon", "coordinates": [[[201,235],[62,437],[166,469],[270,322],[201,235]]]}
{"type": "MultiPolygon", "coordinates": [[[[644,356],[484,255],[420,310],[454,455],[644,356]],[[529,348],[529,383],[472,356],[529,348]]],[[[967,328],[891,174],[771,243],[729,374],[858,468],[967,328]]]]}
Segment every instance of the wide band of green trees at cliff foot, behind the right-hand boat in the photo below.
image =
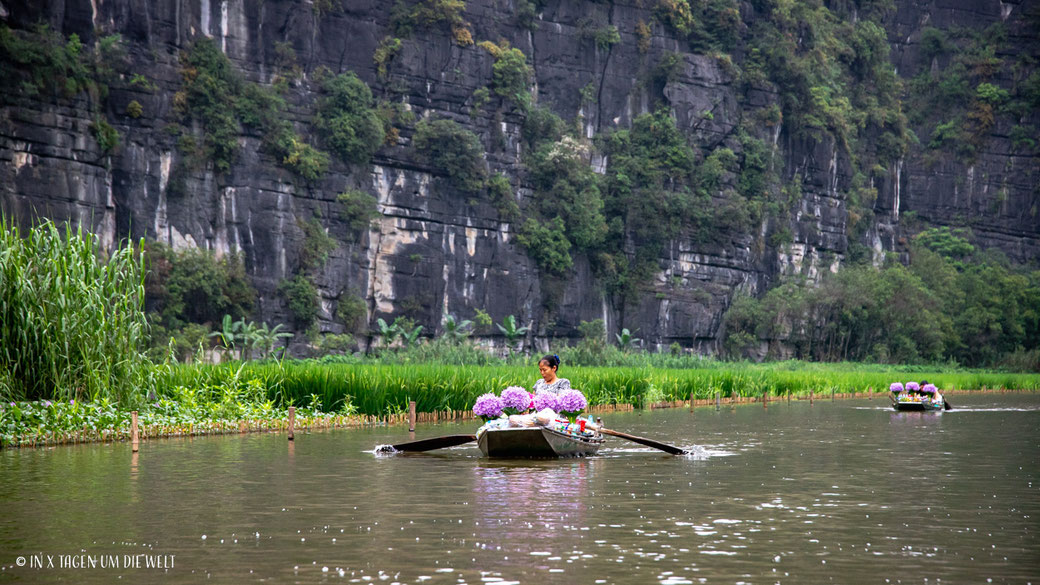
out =
{"type": "Polygon", "coordinates": [[[995,365],[1038,347],[1040,273],[973,252],[961,235],[922,232],[909,268],[847,266],[818,286],[795,280],[759,300],[737,297],[725,317],[727,355],[782,341],[814,360],[995,365]]]}

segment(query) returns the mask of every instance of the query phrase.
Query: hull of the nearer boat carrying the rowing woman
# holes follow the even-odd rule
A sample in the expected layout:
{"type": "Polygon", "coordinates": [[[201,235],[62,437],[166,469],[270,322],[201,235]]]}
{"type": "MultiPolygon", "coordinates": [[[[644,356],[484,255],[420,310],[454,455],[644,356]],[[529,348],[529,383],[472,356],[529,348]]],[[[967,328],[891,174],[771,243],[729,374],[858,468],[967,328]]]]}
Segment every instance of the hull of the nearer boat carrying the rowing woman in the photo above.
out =
{"type": "Polygon", "coordinates": [[[489,429],[477,438],[486,457],[587,457],[603,446],[602,435],[561,433],[545,427],[489,429]]]}

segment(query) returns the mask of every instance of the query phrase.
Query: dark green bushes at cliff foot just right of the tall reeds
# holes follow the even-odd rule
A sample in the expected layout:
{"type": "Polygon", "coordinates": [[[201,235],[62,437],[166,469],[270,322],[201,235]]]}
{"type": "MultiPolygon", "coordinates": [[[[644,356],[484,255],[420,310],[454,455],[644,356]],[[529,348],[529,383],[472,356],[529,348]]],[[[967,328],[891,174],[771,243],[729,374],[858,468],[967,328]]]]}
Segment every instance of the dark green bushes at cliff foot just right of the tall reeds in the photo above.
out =
{"type": "Polygon", "coordinates": [[[175,252],[158,243],[145,252],[148,307],[163,327],[214,324],[225,314],[239,320],[253,310],[256,290],[237,255],[216,259],[208,250],[175,252]]]}

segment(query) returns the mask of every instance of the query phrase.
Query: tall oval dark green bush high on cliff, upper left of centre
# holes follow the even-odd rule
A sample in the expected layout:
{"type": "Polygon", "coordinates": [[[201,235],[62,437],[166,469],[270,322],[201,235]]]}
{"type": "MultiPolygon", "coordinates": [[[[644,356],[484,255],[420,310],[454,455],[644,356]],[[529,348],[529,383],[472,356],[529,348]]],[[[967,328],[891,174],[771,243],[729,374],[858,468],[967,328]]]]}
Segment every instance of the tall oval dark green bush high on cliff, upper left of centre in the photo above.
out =
{"type": "Polygon", "coordinates": [[[383,121],[373,108],[372,92],[353,72],[322,84],[314,126],[346,162],[366,163],[383,145],[383,121]]]}

